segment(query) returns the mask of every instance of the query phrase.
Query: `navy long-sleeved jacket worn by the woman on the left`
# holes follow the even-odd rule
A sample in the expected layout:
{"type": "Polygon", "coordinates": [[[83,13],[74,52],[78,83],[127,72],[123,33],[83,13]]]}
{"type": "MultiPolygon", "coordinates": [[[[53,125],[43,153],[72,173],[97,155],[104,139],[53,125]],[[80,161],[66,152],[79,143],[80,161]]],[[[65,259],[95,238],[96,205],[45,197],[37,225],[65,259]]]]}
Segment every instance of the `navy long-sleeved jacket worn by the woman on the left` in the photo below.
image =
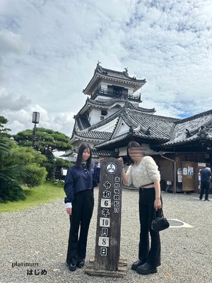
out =
{"type": "Polygon", "coordinates": [[[86,163],[81,167],[72,165],[69,167],[64,184],[64,191],[66,197],[64,202],[73,202],[74,195],[82,190],[93,189],[100,183],[100,168],[95,163],[92,163],[92,167],[88,170],[86,163]]]}

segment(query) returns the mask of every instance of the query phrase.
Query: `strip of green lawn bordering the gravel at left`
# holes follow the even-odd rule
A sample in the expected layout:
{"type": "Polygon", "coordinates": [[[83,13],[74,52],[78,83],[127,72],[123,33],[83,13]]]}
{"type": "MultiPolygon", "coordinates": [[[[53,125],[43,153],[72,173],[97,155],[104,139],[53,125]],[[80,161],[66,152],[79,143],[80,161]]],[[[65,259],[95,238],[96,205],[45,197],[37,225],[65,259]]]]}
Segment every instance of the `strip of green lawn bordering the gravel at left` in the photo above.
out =
{"type": "Polygon", "coordinates": [[[55,185],[51,181],[46,181],[44,185],[35,188],[23,188],[26,199],[18,202],[0,203],[0,213],[18,212],[30,207],[37,207],[40,204],[52,202],[65,197],[63,183],[55,185]]]}

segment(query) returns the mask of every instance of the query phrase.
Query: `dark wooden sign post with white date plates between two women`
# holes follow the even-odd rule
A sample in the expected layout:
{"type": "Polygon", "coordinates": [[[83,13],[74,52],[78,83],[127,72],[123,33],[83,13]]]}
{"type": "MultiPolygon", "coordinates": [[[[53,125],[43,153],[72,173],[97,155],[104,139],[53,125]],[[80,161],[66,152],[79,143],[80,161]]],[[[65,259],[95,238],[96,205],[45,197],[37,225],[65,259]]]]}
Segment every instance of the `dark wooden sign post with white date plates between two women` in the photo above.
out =
{"type": "Polygon", "coordinates": [[[124,277],[126,260],[120,260],[122,163],[116,158],[101,162],[95,259],[88,275],[124,277]]]}

